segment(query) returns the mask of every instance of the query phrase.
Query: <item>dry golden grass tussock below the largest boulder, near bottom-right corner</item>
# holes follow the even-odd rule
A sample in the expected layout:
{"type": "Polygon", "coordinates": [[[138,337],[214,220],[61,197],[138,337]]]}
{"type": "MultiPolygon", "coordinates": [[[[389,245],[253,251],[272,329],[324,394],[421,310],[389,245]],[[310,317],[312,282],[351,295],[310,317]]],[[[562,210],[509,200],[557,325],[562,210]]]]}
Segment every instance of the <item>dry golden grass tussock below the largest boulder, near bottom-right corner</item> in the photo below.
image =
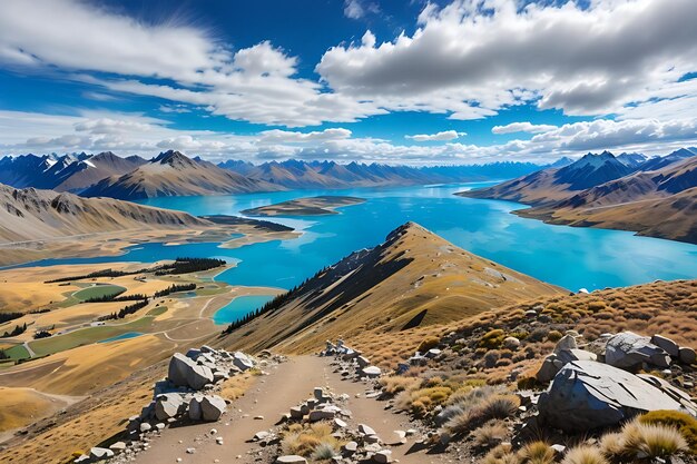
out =
{"type": "Polygon", "coordinates": [[[687,451],[687,442],[677,428],[662,424],[630,422],[622,428],[622,447],[635,457],[669,457],[687,451]]]}

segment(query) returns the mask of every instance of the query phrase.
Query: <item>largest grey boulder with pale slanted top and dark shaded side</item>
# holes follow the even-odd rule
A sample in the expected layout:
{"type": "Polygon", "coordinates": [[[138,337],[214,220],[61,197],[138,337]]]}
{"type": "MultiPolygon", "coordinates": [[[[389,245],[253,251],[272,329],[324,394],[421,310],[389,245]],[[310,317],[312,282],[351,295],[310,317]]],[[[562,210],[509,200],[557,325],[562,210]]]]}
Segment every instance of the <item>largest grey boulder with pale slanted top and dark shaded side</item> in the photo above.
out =
{"type": "Polygon", "coordinates": [[[636,375],[592,361],[563,366],[538,401],[540,418],[567,432],[616,425],[647,411],[679,408],[678,402],[636,375]]]}

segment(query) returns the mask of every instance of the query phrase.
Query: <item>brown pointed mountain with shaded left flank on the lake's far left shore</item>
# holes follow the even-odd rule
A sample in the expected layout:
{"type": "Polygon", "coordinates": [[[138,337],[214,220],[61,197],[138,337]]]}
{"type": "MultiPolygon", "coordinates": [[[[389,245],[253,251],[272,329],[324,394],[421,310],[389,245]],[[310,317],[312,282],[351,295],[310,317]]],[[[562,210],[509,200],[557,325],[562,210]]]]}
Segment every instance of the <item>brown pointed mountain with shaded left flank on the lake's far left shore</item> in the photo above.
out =
{"type": "Polygon", "coordinates": [[[160,154],[151,161],[124,176],[111,176],[81,192],[85,197],[143,199],[169,196],[244,194],[278,190],[263,180],[238,174],[179,151],[160,154]]]}

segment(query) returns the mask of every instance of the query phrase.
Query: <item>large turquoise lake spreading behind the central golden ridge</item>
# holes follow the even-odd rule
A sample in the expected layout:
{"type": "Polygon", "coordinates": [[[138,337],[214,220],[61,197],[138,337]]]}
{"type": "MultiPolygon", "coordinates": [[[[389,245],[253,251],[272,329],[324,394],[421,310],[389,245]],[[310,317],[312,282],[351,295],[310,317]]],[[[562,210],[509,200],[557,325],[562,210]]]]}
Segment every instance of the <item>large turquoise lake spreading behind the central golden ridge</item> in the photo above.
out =
{"type": "Polygon", "coordinates": [[[218,244],[147,244],[134,247],[126,256],[47,259],[39,264],[218,257],[237,263],[237,267],[220,274],[217,280],[291,288],[323,266],[380,244],[392,229],[413,220],[469,251],[572,290],[697,277],[695,245],[637,237],[628,231],[550,226],[510,214],[523,208],[519,204],[453,195],[481,185],[154,198],[143,203],[195,215],[238,215],[243,209],[315,195],[350,195],[366,201],[341,208],[341,215],[268,218],[302,230],[297,239],[237,249],[218,248],[218,244]]]}

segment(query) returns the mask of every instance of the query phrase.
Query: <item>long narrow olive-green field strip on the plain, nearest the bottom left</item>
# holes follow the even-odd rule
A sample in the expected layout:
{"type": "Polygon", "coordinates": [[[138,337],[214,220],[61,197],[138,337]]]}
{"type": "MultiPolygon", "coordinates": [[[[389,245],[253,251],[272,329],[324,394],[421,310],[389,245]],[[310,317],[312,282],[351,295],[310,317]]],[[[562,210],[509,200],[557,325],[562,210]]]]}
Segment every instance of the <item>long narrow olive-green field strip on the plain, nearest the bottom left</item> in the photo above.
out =
{"type": "MultiPolygon", "coordinates": [[[[82,345],[90,345],[105,338],[111,338],[127,332],[148,332],[153,327],[154,316],[145,316],[128,324],[80,328],[65,335],[55,335],[29,343],[37,356],[65,352],[82,345]]],[[[14,348],[12,348],[14,349],[14,348]]]]}

